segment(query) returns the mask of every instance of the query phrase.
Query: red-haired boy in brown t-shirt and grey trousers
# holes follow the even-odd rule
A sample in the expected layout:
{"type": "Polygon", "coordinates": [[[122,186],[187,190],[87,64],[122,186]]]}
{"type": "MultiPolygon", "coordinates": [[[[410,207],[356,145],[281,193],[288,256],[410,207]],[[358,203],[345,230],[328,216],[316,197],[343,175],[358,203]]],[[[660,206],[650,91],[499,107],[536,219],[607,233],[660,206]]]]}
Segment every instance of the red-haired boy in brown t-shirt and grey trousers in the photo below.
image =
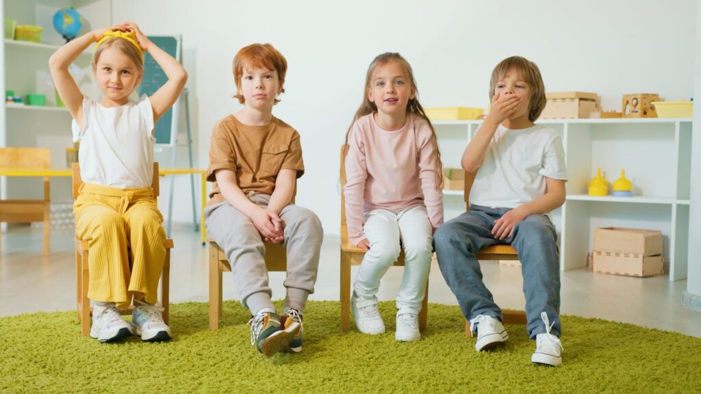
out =
{"type": "Polygon", "coordinates": [[[226,253],[241,303],[253,315],[251,344],[268,357],[301,351],[302,315],[323,238],[314,212],[290,204],[304,163],[299,134],[273,116],[285,72],[285,57],[270,44],[239,50],[235,97],[245,107],[215,125],[207,169],[207,180],[215,182],[205,210],[207,231],[226,253]],[[264,241],[287,248],[282,315],[271,302],[264,241]]]}

